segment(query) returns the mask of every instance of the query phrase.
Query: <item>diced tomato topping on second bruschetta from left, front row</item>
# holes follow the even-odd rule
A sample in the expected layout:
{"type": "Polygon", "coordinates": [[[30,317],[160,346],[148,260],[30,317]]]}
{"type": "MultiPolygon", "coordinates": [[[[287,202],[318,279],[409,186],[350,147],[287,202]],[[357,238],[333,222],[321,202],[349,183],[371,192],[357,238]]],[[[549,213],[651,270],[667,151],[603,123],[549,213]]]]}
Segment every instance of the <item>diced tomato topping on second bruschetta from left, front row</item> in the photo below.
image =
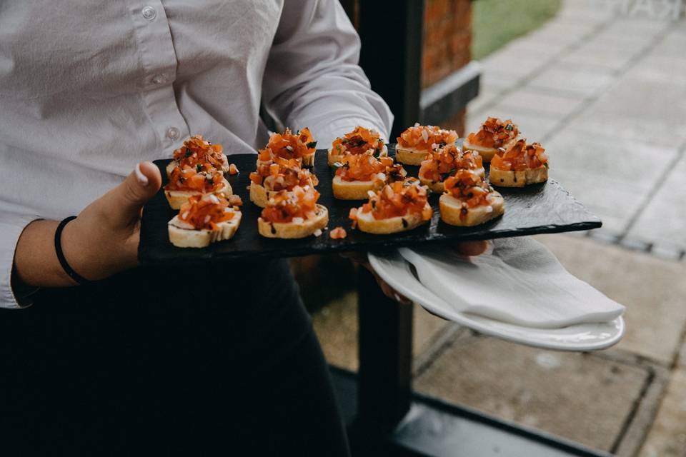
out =
{"type": "Polygon", "coordinates": [[[267,201],[262,219],[267,222],[292,222],[294,218],[312,219],[317,214],[319,192],[312,186],[294,186],[292,191],[279,191],[267,201]]]}

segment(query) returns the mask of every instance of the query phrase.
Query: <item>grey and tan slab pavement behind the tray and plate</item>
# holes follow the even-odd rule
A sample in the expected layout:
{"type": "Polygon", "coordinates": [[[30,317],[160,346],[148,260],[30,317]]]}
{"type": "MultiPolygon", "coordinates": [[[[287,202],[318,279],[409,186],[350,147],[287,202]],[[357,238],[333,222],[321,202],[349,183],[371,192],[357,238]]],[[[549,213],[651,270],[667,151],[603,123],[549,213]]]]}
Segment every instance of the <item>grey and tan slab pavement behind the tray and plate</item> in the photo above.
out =
{"type": "MultiPolygon", "coordinates": [[[[604,221],[537,237],[627,306],[614,348],[557,353],[479,336],[416,307],[419,391],[617,456],[686,456],[686,21],[560,14],[482,62],[467,130],[511,117],[551,175],[604,221]]],[[[615,2],[617,3],[617,2],[615,2]]],[[[314,324],[331,363],[357,368],[357,297],[314,324]]]]}

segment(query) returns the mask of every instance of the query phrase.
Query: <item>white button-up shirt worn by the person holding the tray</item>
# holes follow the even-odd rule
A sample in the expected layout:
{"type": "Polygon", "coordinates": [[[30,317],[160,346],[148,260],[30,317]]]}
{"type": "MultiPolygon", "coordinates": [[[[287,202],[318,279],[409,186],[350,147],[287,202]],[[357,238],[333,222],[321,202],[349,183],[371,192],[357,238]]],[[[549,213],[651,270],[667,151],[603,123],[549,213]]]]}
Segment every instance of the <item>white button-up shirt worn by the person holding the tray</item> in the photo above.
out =
{"type": "Polygon", "coordinates": [[[3,0],[0,306],[18,306],[26,224],[78,214],[189,135],[254,151],[262,104],[322,146],[357,124],[387,138],[358,57],[338,0],[3,0]]]}

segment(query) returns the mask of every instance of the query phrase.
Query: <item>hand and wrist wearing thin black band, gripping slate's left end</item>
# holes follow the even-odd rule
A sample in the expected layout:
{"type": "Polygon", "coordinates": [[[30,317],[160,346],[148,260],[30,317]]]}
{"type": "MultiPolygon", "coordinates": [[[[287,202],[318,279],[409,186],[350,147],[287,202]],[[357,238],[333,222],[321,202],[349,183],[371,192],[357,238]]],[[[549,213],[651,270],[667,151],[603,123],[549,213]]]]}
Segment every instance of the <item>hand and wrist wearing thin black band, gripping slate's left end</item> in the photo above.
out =
{"type": "MultiPolygon", "coordinates": [[[[124,182],[86,206],[62,231],[62,251],[69,266],[91,281],[136,266],[141,211],[160,186],[159,169],[141,162],[124,182]]],[[[29,286],[74,284],[57,261],[53,243],[57,224],[34,221],[19,238],[14,264],[29,286]]]]}

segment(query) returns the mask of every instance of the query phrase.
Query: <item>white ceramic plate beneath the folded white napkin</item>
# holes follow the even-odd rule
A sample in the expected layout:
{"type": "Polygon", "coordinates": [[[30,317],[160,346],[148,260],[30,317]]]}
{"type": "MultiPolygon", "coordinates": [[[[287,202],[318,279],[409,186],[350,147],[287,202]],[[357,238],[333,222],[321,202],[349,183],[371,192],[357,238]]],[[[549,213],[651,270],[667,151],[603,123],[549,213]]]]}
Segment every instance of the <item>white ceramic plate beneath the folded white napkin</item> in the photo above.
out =
{"type": "Polygon", "coordinates": [[[612,346],[624,335],[624,320],[621,317],[607,323],[583,323],[565,328],[531,328],[461,313],[425,288],[414,277],[409,263],[397,251],[384,253],[383,256],[369,253],[369,263],[392,288],[427,311],[486,335],[558,351],[597,351],[612,346]]]}

